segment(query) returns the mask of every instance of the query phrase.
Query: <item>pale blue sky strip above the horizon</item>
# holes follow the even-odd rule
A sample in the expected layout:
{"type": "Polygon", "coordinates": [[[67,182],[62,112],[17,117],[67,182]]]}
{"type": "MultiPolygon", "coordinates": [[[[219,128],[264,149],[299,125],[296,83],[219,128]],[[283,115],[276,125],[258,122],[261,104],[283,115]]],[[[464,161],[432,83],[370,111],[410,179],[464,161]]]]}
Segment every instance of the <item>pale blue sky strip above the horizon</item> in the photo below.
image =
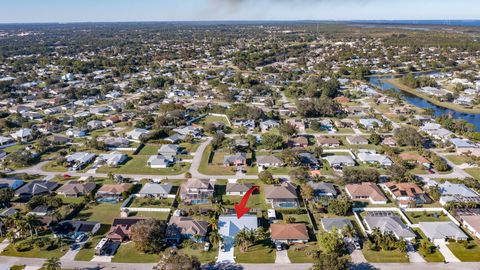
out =
{"type": "Polygon", "coordinates": [[[0,0],[0,23],[480,19],[479,0],[0,0]]]}

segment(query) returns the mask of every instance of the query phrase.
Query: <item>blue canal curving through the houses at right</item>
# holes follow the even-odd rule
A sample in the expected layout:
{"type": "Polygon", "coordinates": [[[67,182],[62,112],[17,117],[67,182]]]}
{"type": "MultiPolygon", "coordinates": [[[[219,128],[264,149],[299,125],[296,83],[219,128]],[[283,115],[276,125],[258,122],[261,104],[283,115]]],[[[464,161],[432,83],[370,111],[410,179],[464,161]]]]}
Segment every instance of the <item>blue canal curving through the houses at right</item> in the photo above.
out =
{"type": "Polygon", "coordinates": [[[382,90],[393,90],[395,92],[400,93],[400,95],[410,104],[417,106],[422,109],[432,109],[435,116],[440,116],[444,114],[449,114],[453,118],[456,119],[463,119],[466,120],[469,123],[472,123],[475,125],[476,131],[480,131],[480,114],[470,114],[470,113],[462,113],[462,112],[457,112],[451,109],[443,108],[440,106],[437,106],[435,104],[432,104],[423,98],[417,97],[415,95],[412,95],[410,93],[404,92],[400,90],[398,87],[395,87],[394,85],[385,82],[385,79],[391,79],[391,78],[396,78],[396,76],[372,76],[369,78],[369,81],[372,85],[382,89],[382,90]]]}

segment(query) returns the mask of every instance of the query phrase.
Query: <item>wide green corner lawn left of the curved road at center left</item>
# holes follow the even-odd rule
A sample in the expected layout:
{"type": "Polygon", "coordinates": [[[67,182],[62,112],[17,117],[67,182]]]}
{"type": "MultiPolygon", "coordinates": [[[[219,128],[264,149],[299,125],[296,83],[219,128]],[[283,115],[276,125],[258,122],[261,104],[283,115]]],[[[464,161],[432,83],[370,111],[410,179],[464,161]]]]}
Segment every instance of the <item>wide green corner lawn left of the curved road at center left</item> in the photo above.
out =
{"type": "Polygon", "coordinates": [[[151,175],[178,175],[188,171],[190,163],[177,163],[172,167],[153,169],[147,166],[150,156],[133,156],[124,165],[118,168],[103,166],[97,169],[97,173],[121,173],[121,174],[151,174],[151,175]]]}

